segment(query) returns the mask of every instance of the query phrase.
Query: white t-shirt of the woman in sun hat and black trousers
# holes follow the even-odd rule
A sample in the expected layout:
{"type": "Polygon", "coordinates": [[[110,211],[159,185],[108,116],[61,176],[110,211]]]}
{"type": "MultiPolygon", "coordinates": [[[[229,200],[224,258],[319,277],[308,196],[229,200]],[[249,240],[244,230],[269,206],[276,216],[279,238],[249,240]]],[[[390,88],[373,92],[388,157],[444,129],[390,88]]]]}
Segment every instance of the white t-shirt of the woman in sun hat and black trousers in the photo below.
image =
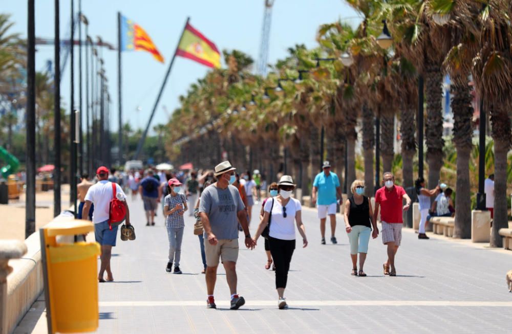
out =
{"type": "Polygon", "coordinates": [[[295,214],[302,210],[301,202],[298,199],[291,198],[286,204],[286,218],[283,216],[283,206],[277,198],[273,198],[274,206],[272,207],[272,198],[265,203],[263,210],[270,213],[272,208],[272,218],[270,221],[270,229],[268,235],[272,238],[281,240],[295,240],[295,214]]]}

